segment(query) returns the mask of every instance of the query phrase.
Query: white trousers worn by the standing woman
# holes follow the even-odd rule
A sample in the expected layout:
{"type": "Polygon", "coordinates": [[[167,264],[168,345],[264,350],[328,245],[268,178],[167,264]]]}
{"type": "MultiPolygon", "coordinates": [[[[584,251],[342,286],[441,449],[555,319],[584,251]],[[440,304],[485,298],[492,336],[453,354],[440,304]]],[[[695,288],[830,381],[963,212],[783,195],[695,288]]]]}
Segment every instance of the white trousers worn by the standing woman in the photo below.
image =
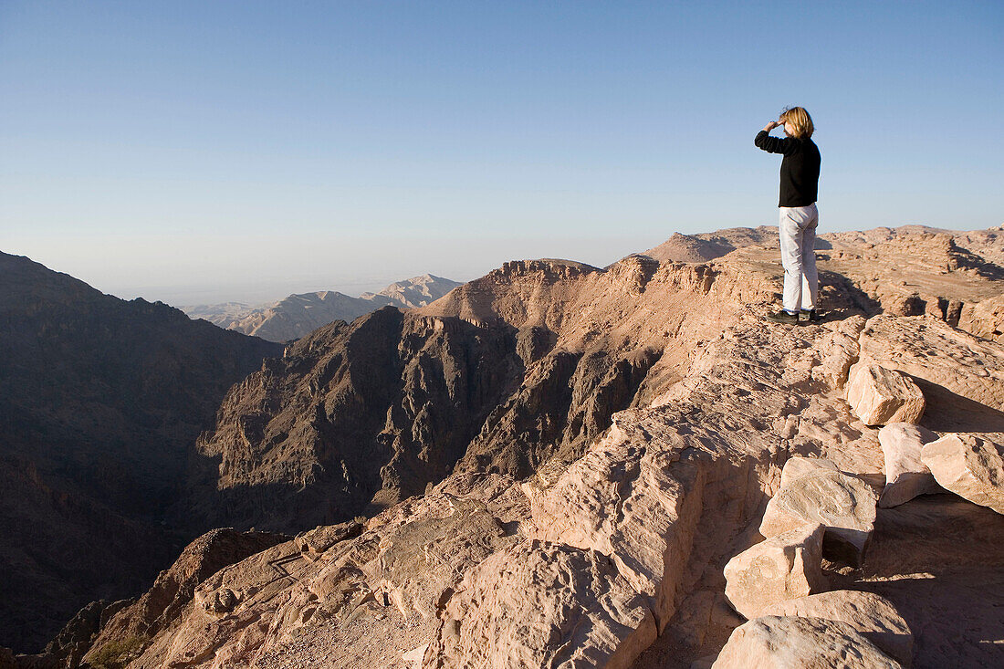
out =
{"type": "Polygon", "coordinates": [[[781,265],[784,267],[785,311],[814,309],[819,278],[815,269],[815,228],[819,212],[807,207],[779,207],[781,212],[781,265]]]}

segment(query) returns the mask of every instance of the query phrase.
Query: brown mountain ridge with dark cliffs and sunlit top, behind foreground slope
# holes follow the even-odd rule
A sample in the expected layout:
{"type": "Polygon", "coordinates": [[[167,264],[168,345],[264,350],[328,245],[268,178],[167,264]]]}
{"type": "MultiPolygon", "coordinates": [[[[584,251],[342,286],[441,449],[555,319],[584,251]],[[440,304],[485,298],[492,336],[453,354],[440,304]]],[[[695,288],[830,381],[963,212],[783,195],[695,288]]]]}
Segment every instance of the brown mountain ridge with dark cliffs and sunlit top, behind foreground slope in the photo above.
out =
{"type": "Polygon", "coordinates": [[[290,532],[379,510],[453,470],[525,477],[574,460],[758,294],[707,266],[540,260],[417,312],[331,323],[231,390],[176,516],[290,532]],[[696,304],[714,317],[690,317],[696,304]]]}

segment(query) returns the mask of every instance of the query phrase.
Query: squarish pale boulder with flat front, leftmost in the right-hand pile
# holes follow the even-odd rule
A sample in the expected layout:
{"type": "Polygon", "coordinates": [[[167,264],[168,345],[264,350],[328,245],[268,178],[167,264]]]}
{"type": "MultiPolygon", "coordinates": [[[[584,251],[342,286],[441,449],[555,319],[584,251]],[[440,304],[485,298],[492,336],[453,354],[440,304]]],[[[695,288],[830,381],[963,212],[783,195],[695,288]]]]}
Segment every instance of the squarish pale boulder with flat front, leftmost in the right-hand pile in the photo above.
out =
{"type": "Polygon", "coordinates": [[[820,524],[803,525],[743,550],[725,566],[725,597],[752,620],[764,608],[818,593],[822,574],[820,524]]]}

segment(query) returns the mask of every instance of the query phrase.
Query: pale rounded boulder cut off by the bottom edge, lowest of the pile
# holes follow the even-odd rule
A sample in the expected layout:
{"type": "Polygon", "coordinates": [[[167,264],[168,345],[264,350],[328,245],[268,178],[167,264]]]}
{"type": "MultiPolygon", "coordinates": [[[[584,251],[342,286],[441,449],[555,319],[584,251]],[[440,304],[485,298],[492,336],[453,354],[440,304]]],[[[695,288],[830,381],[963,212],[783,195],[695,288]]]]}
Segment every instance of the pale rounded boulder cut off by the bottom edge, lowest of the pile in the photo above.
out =
{"type": "Polygon", "coordinates": [[[896,669],[847,623],[820,618],[764,616],[737,627],[713,669],[896,669]]]}

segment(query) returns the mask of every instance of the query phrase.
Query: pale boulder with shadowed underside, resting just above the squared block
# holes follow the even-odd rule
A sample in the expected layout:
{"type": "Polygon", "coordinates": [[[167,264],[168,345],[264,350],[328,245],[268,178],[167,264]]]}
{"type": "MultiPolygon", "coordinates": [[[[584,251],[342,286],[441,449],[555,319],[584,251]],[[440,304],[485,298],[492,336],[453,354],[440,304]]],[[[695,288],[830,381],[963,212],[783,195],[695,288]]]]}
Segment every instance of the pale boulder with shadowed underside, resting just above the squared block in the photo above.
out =
{"type": "Polygon", "coordinates": [[[876,497],[864,481],[822,465],[824,460],[790,458],[781,487],[769,502],[760,533],[777,536],[806,524],[825,526],[824,558],[859,565],[871,537],[876,497]]]}

